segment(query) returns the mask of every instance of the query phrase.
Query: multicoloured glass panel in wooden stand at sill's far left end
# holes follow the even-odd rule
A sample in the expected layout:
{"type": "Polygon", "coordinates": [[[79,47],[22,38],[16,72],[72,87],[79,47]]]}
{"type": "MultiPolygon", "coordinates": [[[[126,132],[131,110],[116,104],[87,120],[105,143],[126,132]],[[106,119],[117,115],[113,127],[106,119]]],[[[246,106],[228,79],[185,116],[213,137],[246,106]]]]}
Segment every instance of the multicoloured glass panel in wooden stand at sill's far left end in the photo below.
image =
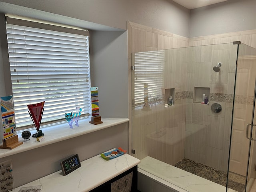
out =
{"type": "Polygon", "coordinates": [[[23,142],[19,142],[18,135],[16,134],[16,124],[12,95],[1,97],[0,103],[4,133],[3,144],[0,146],[0,148],[13,149],[23,144],[23,142]]]}

